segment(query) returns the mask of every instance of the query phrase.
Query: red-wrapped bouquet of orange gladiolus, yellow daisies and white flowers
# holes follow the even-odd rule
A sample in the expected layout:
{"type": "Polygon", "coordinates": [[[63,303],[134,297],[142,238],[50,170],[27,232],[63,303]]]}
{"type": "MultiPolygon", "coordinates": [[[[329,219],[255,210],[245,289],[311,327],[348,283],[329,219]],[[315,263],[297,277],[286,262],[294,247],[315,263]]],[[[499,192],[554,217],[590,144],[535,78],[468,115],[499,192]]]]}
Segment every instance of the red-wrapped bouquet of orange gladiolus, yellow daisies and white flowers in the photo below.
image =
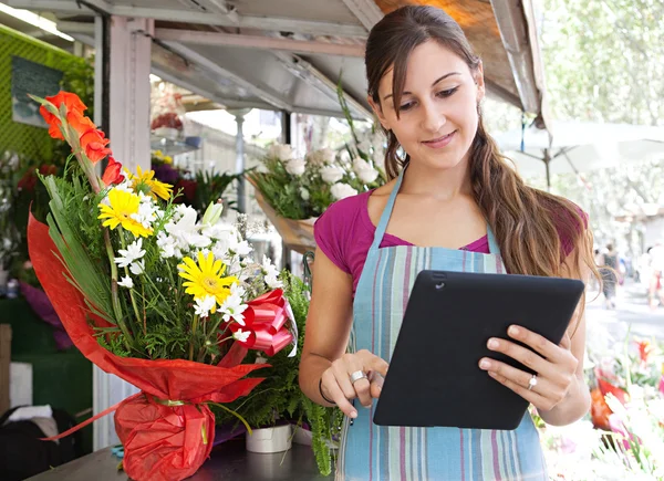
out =
{"type": "Polygon", "coordinates": [[[279,273],[250,258],[220,205],[197,219],[153,171],[123,170],[79,97],[34,100],[76,160],[41,177],[51,200],[48,226],[29,222],[35,273],[75,346],[141,389],[95,417],[115,410],[124,470],[185,479],[210,453],[209,406],[225,409],[263,380],[246,377],[269,367],[245,363],[248,351],[269,357],[295,343],[279,273]]]}

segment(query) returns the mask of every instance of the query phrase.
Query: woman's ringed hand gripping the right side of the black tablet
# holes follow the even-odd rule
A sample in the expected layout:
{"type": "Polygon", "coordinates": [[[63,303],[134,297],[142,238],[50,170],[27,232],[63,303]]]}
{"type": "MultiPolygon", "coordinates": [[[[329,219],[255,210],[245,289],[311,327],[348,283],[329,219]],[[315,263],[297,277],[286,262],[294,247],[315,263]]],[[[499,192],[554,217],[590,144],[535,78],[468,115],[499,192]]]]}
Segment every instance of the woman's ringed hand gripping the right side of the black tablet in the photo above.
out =
{"type": "Polygon", "coordinates": [[[508,364],[484,357],[479,367],[498,383],[510,388],[538,410],[549,411],[568,395],[575,381],[579,360],[571,352],[571,339],[564,334],[560,345],[521,326],[510,326],[508,335],[535,349],[535,353],[511,341],[491,337],[487,347],[502,353],[537,373],[537,384],[530,386],[532,375],[508,364]]]}

